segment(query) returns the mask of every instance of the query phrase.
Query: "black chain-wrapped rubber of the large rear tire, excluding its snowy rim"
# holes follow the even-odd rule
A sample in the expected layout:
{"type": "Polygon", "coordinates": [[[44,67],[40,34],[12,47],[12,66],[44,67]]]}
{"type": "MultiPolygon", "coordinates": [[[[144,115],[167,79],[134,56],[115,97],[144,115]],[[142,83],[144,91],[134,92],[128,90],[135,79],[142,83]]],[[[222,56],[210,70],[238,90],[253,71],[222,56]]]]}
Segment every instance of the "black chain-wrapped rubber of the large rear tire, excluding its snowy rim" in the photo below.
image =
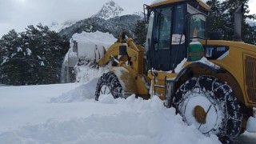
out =
{"type": "MultiPolygon", "coordinates": [[[[241,128],[241,121],[242,121],[242,114],[241,113],[234,113],[234,110],[240,111],[240,106],[237,101],[237,98],[234,97],[234,93],[232,92],[232,89],[230,86],[228,86],[226,83],[218,82],[218,78],[210,77],[210,76],[199,76],[197,78],[191,78],[189,80],[190,82],[185,82],[178,88],[177,93],[187,93],[189,90],[189,87],[194,85],[194,88],[202,88],[202,90],[206,89],[206,91],[212,90],[214,93],[224,93],[222,95],[216,95],[214,99],[216,102],[225,102],[225,105],[223,109],[226,111],[226,116],[228,117],[226,119],[226,122],[223,121],[222,124],[224,124],[224,129],[221,130],[220,134],[220,140],[223,143],[229,143],[230,138],[236,138],[238,136],[238,131],[240,131],[241,128]],[[204,78],[210,80],[212,87],[209,89],[206,88],[206,86],[201,86],[199,81],[205,80],[204,78]],[[191,82],[192,81],[192,82],[191,82]],[[190,85],[190,86],[189,86],[190,85]],[[208,90],[207,90],[208,89],[208,90]],[[218,92],[219,90],[219,92],[218,92]],[[235,130],[234,130],[235,129],[235,130]]],[[[181,102],[184,101],[184,98],[174,98],[173,106],[178,110],[178,106],[181,104],[181,102]]],[[[178,111],[179,112],[179,111],[178,111]]]]}

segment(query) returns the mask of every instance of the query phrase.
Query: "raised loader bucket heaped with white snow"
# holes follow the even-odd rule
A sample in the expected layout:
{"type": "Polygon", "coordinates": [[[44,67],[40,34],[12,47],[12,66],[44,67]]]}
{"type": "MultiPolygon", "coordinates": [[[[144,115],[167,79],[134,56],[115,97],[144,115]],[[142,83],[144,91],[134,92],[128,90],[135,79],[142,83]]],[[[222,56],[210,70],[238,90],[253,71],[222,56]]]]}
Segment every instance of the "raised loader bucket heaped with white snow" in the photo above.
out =
{"type": "Polygon", "coordinates": [[[70,38],[70,49],[66,54],[65,66],[98,67],[98,60],[106,54],[106,49],[116,42],[116,38],[109,33],[96,31],[82,32],[70,38]]]}

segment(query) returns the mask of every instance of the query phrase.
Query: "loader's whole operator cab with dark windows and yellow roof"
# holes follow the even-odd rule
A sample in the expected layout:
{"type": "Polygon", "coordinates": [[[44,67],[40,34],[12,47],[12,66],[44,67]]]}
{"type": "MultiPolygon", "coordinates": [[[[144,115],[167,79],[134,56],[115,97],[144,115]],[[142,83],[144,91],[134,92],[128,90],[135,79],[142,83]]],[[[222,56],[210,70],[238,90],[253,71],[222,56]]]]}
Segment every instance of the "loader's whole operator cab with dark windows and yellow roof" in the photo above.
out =
{"type": "Polygon", "coordinates": [[[208,7],[199,0],[167,0],[147,7],[147,70],[174,70],[187,58],[189,43],[206,38],[208,7]]]}

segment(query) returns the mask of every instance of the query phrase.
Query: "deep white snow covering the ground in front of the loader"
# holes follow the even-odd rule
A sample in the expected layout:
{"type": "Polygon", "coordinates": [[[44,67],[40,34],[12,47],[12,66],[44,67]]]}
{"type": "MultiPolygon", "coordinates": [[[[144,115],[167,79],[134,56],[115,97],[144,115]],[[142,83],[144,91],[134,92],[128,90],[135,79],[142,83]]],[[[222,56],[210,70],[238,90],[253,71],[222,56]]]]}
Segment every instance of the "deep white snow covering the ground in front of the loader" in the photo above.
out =
{"type": "Polygon", "coordinates": [[[94,101],[96,82],[0,86],[0,143],[215,144],[158,98],[94,101]]]}

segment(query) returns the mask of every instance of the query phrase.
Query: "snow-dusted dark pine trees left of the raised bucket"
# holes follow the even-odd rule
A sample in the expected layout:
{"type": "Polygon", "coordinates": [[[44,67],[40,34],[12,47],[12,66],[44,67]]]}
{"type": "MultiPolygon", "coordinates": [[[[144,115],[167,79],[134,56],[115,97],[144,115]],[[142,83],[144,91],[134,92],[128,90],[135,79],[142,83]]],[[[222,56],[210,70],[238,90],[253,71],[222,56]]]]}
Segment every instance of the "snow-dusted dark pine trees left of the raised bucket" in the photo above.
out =
{"type": "Polygon", "coordinates": [[[11,30],[1,38],[0,48],[0,83],[58,83],[69,41],[39,23],[20,34],[11,30]]]}

